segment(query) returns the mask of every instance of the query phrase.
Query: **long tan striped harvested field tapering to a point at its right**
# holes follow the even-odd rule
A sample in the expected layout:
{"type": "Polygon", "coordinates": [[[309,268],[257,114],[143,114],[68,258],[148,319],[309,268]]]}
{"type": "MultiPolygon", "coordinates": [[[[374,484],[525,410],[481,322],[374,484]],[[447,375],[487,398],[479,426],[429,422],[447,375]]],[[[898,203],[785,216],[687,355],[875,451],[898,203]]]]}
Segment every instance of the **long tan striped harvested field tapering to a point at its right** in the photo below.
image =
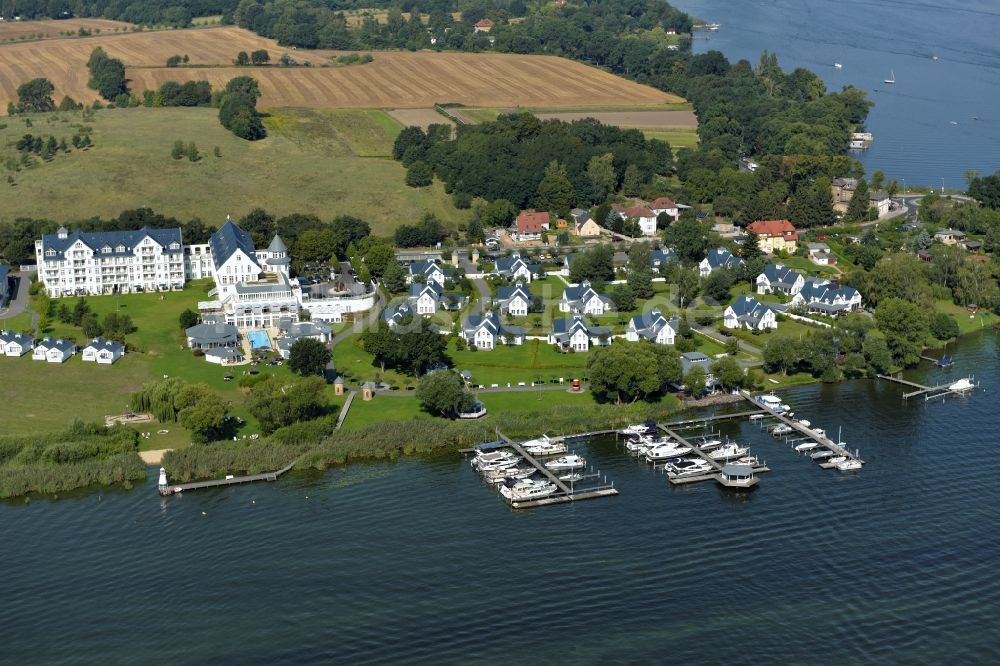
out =
{"type": "Polygon", "coordinates": [[[136,90],[173,79],[213,86],[241,74],[260,82],[261,106],[428,108],[468,106],[579,107],[676,103],[680,98],[599,69],[553,56],[494,53],[379,52],[367,65],[337,68],[130,69],[136,90]]]}

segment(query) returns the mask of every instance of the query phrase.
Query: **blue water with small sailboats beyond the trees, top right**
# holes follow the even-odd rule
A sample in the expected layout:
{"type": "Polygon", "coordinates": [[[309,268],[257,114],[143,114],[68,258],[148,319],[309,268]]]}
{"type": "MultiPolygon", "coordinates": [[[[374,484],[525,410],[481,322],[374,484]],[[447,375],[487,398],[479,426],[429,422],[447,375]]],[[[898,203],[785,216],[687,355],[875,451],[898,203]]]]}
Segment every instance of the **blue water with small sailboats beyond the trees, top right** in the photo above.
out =
{"type": "Polygon", "coordinates": [[[756,63],[768,49],[827,88],[853,84],[875,102],[869,173],[965,188],[964,173],[1000,168],[1000,3],[996,0],[678,0],[722,24],[694,50],[756,63]],[[937,62],[931,59],[937,56],[937,62]],[[839,62],[843,69],[835,69],[839,62]],[[896,84],[883,81],[895,72],[896,84]],[[978,118],[979,120],[974,120],[978,118]],[[951,123],[955,122],[956,125],[951,123]]]}

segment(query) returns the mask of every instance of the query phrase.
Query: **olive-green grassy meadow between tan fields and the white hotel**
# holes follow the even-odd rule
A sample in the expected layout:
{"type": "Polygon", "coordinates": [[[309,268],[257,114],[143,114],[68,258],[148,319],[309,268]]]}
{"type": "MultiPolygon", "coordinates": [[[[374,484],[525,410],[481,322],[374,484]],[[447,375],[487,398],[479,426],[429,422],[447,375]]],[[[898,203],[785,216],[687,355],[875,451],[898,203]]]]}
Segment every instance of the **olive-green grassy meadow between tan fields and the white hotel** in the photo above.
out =
{"type": "Polygon", "coordinates": [[[387,159],[399,124],[383,112],[269,111],[269,136],[256,142],[226,131],[208,108],[109,109],[86,122],[79,113],[42,114],[30,118],[30,128],[25,118],[8,118],[0,129],[0,164],[19,157],[13,144],[25,133],[69,141],[85,124],[94,147],[59,153],[51,162],[36,159],[14,173],[16,184],[0,187],[0,210],[5,219],[72,221],[148,206],[217,225],[227,214],[238,219],[263,207],[322,219],[355,215],[377,234],[391,234],[425,211],[449,225],[468,217],[440,183],[404,185],[406,170],[387,159]],[[202,159],[172,159],[175,140],[194,142],[202,159]],[[216,147],[221,157],[213,155],[216,147]]]}

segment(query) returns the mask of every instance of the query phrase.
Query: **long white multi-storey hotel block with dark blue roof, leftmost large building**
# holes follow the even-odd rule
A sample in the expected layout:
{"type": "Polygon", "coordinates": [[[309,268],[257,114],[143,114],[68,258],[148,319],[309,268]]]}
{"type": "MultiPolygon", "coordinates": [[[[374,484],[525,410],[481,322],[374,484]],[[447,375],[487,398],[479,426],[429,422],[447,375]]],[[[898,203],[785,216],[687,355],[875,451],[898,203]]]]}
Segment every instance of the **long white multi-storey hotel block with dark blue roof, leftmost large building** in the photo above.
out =
{"type": "Polygon", "coordinates": [[[74,231],[60,227],[35,241],[38,279],[51,297],[183,289],[200,277],[188,264],[181,230],[74,231]]]}

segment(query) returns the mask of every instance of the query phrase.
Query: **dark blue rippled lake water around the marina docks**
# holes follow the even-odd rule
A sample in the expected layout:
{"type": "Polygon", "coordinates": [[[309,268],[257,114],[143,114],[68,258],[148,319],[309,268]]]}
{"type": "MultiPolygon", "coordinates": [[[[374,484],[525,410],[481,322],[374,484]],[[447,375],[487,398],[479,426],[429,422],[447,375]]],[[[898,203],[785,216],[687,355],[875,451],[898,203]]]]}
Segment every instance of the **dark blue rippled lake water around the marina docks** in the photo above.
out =
{"type": "Polygon", "coordinates": [[[997,340],[954,353],[913,376],[984,392],[786,394],[857,474],[725,426],[774,470],[750,495],[604,440],[581,450],[619,497],[521,512],[451,457],[0,504],[0,661],[997,663],[997,340]]]}

